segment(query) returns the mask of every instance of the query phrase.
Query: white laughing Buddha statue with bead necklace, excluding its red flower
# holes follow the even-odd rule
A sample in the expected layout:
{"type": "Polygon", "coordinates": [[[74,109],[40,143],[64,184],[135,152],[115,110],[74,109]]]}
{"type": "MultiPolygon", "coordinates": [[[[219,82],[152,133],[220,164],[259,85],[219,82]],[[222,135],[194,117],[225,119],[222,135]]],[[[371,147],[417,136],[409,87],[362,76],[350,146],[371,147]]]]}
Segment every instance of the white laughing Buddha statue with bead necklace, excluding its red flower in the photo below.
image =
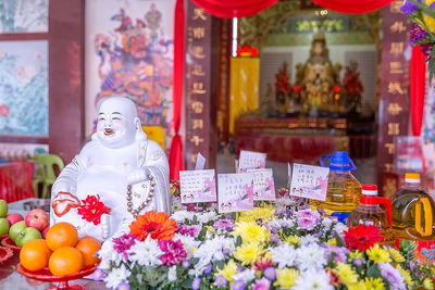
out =
{"type": "Polygon", "coordinates": [[[100,105],[91,140],[52,186],[50,224],[67,222],[79,237],[103,241],[120,230],[127,231],[146,211],[170,214],[170,194],[166,155],[147,139],[135,103],[110,97],[100,105]],[[84,207],[83,200],[97,194],[110,213],[101,215],[100,223],[87,222],[78,211],[84,207]]]}

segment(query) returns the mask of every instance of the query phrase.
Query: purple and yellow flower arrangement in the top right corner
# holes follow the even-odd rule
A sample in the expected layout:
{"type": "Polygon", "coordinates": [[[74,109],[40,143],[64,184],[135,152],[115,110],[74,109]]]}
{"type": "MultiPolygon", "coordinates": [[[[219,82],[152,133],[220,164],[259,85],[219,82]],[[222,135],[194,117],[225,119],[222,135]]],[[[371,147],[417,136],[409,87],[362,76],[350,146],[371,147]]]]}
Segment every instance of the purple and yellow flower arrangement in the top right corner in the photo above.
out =
{"type": "Polygon", "coordinates": [[[413,23],[409,43],[420,46],[426,56],[430,79],[435,75],[435,1],[406,0],[400,11],[413,23]]]}

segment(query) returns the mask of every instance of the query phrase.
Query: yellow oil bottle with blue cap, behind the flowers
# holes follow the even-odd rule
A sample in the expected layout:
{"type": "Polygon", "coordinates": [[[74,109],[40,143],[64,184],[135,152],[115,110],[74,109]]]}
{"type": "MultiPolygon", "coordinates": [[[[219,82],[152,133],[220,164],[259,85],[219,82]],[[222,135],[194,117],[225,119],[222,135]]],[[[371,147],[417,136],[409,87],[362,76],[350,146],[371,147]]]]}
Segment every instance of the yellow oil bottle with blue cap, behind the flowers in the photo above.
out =
{"type": "Polygon", "coordinates": [[[350,173],[357,166],[346,151],[334,151],[331,156],[322,156],[320,164],[325,167],[323,159],[331,159],[326,200],[311,200],[311,204],[346,223],[350,212],[359,204],[361,196],[361,184],[350,173]]]}

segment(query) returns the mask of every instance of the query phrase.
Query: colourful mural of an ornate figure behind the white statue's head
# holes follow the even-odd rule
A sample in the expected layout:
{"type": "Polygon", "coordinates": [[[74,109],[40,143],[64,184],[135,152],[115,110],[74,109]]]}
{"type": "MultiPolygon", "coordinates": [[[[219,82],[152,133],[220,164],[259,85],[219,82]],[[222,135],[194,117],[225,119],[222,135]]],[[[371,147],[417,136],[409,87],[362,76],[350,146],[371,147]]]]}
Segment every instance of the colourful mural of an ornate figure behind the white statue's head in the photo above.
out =
{"type": "Polygon", "coordinates": [[[94,106],[113,93],[127,94],[136,101],[142,125],[161,126],[166,136],[172,127],[173,5],[128,1],[108,13],[111,28],[92,39],[100,84],[94,106]]]}

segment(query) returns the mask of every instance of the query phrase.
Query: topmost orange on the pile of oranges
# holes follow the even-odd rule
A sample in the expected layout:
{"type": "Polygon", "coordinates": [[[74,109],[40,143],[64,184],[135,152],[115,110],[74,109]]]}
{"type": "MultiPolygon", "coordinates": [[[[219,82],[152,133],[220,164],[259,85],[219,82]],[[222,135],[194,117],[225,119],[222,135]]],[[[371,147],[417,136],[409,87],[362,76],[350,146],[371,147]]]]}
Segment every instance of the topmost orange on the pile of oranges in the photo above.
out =
{"type": "Polygon", "coordinates": [[[77,229],[69,223],[55,224],[48,230],[46,240],[52,251],[61,247],[74,247],[78,241],[77,229]]]}

